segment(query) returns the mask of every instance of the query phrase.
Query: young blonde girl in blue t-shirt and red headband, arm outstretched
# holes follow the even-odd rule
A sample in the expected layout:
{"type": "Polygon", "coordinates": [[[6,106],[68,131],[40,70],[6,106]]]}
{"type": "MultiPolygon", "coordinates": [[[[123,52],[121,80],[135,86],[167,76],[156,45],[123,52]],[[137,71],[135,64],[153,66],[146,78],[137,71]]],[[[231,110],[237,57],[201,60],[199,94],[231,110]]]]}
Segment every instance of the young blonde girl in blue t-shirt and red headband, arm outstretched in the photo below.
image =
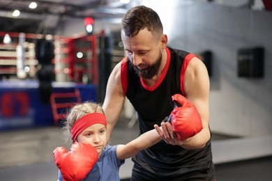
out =
{"type": "Polygon", "coordinates": [[[120,180],[119,167],[125,159],[160,141],[153,129],[126,145],[109,145],[107,123],[100,104],[84,102],[70,109],[66,132],[72,137],[70,151],[58,147],[54,160],[61,180],[120,180]]]}

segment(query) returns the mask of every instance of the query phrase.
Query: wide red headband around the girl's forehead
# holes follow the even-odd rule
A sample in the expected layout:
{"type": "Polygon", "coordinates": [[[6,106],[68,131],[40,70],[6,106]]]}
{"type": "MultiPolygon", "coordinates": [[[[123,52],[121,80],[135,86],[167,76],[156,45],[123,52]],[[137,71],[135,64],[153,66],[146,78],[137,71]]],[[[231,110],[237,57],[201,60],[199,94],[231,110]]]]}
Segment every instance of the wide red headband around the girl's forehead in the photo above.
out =
{"type": "Polygon", "coordinates": [[[72,139],[75,142],[77,136],[87,127],[100,123],[107,126],[106,117],[103,113],[89,113],[82,118],[78,119],[72,126],[71,133],[72,139]]]}

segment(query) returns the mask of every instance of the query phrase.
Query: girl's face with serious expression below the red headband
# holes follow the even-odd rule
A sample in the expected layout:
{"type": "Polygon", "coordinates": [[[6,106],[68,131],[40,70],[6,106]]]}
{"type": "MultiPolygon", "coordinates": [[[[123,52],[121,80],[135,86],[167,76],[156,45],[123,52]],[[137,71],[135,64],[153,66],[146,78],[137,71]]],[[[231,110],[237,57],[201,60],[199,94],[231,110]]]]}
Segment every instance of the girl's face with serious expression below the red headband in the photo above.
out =
{"type": "Polygon", "coordinates": [[[98,157],[107,145],[107,128],[105,125],[97,123],[84,129],[78,136],[77,141],[87,143],[96,148],[98,157]]]}

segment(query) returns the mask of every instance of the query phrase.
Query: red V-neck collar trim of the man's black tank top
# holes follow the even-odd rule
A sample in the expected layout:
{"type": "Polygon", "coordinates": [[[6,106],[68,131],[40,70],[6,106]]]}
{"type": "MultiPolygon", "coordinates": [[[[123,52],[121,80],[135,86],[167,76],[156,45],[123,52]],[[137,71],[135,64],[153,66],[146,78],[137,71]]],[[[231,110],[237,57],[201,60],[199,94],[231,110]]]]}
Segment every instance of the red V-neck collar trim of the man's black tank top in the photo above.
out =
{"type": "Polygon", "coordinates": [[[160,75],[158,81],[153,86],[146,86],[146,84],[144,84],[142,77],[140,77],[141,84],[147,91],[154,91],[156,88],[158,88],[158,86],[160,86],[160,83],[162,83],[163,79],[165,79],[166,73],[170,65],[170,60],[171,60],[171,54],[169,49],[166,47],[165,50],[167,53],[167,60],[166,60],[165,68],[163,69],[163,73],[160,75]]]}

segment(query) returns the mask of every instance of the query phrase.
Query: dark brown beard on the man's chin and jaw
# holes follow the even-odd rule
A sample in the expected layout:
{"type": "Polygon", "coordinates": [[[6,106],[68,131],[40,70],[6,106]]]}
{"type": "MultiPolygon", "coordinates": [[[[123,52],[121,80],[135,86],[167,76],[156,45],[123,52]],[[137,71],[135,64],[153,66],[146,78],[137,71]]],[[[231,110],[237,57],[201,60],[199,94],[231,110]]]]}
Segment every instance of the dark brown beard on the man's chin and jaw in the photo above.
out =
{"type": "Polygon", "coordinates": [[[147,68],[139,69],[137,66],[133,65],[133,70],[135,70],[136,74],[139,75],[139,77],[142,77],[142,79],[151,79],[158,73],[158,70],[160,68],[160,64],[162,63],[162,53],[160,52],[157,60],[153,65],[149,65],[147,68]]]}

